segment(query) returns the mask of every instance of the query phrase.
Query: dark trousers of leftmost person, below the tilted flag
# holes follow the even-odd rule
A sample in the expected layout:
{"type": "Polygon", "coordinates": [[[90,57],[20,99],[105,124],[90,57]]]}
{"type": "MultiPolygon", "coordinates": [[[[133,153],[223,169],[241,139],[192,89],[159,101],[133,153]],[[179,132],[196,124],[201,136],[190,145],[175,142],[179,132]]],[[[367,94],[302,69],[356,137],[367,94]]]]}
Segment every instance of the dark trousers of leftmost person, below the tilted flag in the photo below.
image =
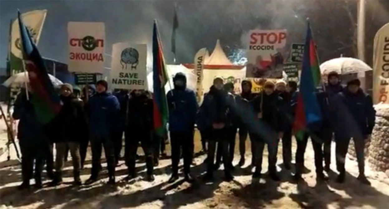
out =
{"type": "MultiPolygon", "coordinates": [[[[19,139],[20,152],[22,154],[22,179],[23,183],[30,183],[34,177],[35,182],[42,182],[42,169],[44,164],[45,148],[42,143],[34,143],[35,139],[19,139]],[[34,172],[35,163],[35,172],[34,172]]],[[[44,143],[44,142],[43,142],[44,143]]]]}

